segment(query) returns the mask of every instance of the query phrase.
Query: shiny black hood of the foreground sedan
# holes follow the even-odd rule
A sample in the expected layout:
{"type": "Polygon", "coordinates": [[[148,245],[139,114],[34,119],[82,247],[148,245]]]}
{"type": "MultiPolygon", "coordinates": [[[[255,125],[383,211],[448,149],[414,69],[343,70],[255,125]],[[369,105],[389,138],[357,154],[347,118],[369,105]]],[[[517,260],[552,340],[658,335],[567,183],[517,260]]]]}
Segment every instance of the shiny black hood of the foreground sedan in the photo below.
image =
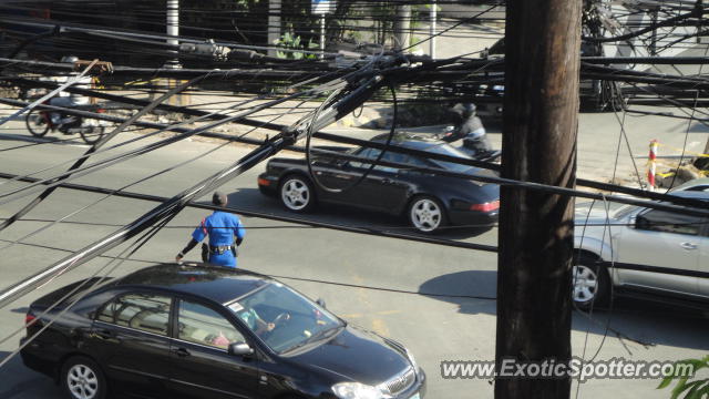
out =
{"type": "Polygon", "coordinates": [[[290,359],[315,372],[327,371],[333,383],[352,380],[372,386],[411,366],[405,355],[384,338],[350,325],[337,336],[290,359]]]}

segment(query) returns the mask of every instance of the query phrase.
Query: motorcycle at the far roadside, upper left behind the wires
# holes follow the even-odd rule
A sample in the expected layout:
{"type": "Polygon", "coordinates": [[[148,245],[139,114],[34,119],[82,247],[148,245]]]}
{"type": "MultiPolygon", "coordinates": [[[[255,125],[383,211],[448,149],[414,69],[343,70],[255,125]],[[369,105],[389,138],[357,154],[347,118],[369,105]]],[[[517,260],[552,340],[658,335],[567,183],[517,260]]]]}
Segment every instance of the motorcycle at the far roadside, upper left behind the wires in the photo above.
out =
{"type": "MultiPolygon", "coordinates": [[[[49,102],[45,102],[49,104],[49,102]]],[[[100,105],[76,105],[78,110],[90,111],[95,113],[104,113],[105,110],[100,105]]],[[[51,130],[59,131],[63,134],[79,133],[86,144],[94,144],[105,133],[107,122],[85,119],[78,115],[61,114],[61,123],[52,122],[52,111],[33,109],[27,113],[24,122],[27,129],[35,137],[43,137],[51,130]]]]}

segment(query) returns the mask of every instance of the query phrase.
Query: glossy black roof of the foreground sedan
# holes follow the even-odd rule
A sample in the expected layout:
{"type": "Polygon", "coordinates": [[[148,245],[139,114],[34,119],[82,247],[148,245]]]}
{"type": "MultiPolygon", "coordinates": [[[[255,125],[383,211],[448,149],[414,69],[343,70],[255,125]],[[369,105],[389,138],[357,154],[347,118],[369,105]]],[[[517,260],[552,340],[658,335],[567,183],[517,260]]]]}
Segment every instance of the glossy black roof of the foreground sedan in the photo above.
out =
{"type": "Polygon", "coordinates": [[[161,264],[134,272],[116,282],[197,295],[225,304],[264,286],[270,278],[253,272],[206,264],[161,264]]]}

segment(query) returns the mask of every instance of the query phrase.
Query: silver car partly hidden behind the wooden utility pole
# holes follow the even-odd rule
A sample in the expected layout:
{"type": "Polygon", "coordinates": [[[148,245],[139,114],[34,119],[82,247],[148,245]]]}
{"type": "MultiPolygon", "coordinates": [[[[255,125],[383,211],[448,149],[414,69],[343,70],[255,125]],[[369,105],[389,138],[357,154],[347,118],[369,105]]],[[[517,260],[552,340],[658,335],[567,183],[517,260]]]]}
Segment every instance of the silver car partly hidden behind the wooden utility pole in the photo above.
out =
{"type": "MultiPolygon", "coordinates": [[[[709,201],[706,191],[671,195],[709,201]]],[[[596,202],[577,207],[575,223],[579,308],[606,305],[615,294],[709,306],[707,218],[633,205],[606,212],[596,202]]]]}

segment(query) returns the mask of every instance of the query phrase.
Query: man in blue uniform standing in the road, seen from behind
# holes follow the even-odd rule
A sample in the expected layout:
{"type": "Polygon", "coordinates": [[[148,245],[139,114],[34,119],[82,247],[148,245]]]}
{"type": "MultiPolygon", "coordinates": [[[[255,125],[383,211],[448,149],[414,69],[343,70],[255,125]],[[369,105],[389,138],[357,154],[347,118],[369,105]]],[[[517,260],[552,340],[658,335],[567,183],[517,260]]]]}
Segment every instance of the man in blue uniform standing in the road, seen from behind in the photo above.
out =
{"type": "MultiPolygon", "coordinates": [[[[225,194],[214,193],[212,197],[214,205],[226,206],[226,202],[225,194]]],[[[204,244],[208,253],[206,262],[213,265],[236,267],[236,247],[244,241],[244,226],[242,226],[242,221],[236,215],[215,211],[212,215],[202,219],[199,226],[192,233],[192,239],[177,254],[175,260],[182,260],[186,253],[192,250],[206,236],[209,236],[209,245],[204,244]],[[236,237],[236,241],[234,237],[236,237]]]]}

